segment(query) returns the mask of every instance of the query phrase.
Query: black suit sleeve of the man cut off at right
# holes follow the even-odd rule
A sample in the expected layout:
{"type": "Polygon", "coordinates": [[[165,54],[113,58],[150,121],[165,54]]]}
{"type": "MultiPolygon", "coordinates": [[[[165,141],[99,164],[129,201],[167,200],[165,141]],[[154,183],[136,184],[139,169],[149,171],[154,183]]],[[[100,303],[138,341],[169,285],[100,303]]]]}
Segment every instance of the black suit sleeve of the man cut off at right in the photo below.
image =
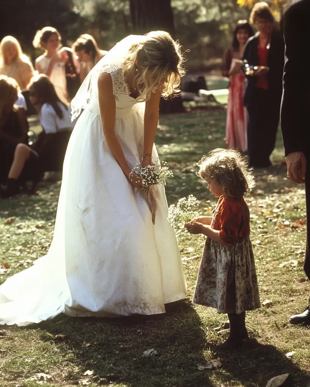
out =
{"type": "Polygon", "coordinates": [[[281,102],[281,131],[285,156],[303,151],[302,130],[306,122],[306,87],[303,83],[304,57],[303,21],[299,9],[294,5],[284,14],[284,71],[281,102]]]}

